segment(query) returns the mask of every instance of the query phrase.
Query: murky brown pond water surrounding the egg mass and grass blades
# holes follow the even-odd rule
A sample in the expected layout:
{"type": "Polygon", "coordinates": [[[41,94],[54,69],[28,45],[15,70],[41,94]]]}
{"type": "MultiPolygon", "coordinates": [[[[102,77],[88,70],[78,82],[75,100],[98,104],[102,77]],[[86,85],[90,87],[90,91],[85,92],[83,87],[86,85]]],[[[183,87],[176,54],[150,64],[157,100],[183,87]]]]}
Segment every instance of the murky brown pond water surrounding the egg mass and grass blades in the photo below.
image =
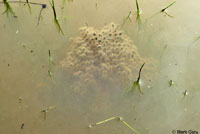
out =
{"type": "MultiPolygon", "coordinates": [[[[113,116],[123,117],[141,134],[200,132],[200,47],[198,40],[193,42],[200,34],[198,0],[177,1],[167,10],[174,18],[159,14],[140,30],[134,0],[74,0],[66,2],[63,10],[62,1],[55,1],[64,36],[56,29],[48,1],[35,2],[48,5],[38,26],[40,6],[31,5],[30,14],[27,6],[11,4],[18,18],[0,15],[0,134],[132,133],[117,120],[88,127],[113,116]],[[144,95],[138,91],[124,95],[115,85],[87,91],[69,88],[70,78],[59,66],[69,39],[78,36],[79,27],[85,25],[122,24],[129,11],[132,22],[128,20],[122,29],[140,55],[154,58],[158,66],[150,82],[142,81],[144,95]],[[48,75],[48,50],[55,63],[52,77],[48,75]],[[172,87],[169,80],[174,81],[172,87]],[[44,120],[41,110],[50,106],[54,108],[44,120]]],[[[171,2],[139,1],[142,22],[171,2]]],[[[0,12],[4,10],[0,4],[0,12]]]]}

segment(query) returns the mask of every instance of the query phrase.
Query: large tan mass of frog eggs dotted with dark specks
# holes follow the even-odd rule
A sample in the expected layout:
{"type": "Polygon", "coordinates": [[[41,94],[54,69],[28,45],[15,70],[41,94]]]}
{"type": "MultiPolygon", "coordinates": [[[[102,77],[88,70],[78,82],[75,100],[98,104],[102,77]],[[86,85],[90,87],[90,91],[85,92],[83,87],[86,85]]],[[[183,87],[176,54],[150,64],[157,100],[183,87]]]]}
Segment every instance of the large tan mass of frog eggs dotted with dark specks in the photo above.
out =
{"type": "Polygon", "coordinates": [[[143,63],[134,43],[119,25],[110,23],[101,30],[80,28],[61,66],[74,80],[93,85],[130,82],[138,77],[143,63]]]}

